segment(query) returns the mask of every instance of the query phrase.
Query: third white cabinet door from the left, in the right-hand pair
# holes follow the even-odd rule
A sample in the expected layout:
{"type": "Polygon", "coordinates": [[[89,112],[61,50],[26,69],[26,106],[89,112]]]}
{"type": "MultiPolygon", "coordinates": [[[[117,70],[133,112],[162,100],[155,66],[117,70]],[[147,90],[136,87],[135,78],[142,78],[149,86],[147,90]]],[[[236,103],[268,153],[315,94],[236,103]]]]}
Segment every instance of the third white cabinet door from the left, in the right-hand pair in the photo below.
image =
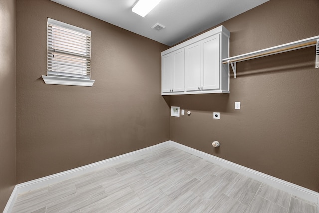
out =
{"type": "Polygon", "coordinates": [[[199,91],[201,70],[200,42],[185,47],[186,91],[199,91]]]}

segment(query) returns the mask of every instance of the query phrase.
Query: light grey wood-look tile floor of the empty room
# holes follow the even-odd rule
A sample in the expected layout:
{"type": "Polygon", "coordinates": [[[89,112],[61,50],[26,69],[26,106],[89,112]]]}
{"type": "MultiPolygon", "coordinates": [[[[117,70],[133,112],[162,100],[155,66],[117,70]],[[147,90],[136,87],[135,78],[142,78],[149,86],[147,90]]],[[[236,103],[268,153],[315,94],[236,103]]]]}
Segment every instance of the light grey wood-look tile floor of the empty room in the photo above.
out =
{"type": "Polygon", "coordinates": [[[317,205],[173,147],[18,195],[13,213],[317,213],[317,205]]]}

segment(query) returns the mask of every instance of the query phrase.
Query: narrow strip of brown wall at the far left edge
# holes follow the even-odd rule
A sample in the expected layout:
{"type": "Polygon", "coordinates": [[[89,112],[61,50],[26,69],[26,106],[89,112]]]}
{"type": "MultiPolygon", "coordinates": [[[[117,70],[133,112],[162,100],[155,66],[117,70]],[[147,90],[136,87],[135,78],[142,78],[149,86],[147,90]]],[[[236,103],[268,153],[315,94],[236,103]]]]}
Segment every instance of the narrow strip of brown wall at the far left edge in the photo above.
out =
{"type": "Polygon", "coordinates": [[[16,1],[0,0],[0,212],[16,184],[15,24],[16,1]]]}

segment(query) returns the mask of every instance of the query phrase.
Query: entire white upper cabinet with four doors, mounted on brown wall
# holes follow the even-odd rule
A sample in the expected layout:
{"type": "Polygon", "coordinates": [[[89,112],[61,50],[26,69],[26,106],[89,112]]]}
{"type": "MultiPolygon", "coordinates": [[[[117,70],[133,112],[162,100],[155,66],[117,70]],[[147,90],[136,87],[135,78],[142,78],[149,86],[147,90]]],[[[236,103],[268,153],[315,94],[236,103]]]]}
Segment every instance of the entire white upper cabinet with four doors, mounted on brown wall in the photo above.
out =
{"type": "Polygon", "coordinates": [[[162,95],[229,93],[229,66],[221,61],[229,54],[229,36],[220,26],[163,51],[162,95]]]}

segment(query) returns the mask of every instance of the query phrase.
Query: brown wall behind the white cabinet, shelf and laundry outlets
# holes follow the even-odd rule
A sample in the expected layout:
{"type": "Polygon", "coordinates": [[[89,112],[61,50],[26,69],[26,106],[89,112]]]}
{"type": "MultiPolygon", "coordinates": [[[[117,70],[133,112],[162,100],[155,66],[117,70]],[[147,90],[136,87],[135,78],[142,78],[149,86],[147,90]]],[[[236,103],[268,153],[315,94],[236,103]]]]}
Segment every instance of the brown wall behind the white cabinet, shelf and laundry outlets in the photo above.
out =
{"type": "MultiPolygon", "coordinates": [[[[318,0],[271,0],[222,23],[231,32],[230,56],[319,35],[318,8],[318,0]]],[[[170,117],[170,139],[319,191],[315,47],[240,62],[237,72],[230,94],[171,96],[171,106],[192,113],[170,117]]]]}

